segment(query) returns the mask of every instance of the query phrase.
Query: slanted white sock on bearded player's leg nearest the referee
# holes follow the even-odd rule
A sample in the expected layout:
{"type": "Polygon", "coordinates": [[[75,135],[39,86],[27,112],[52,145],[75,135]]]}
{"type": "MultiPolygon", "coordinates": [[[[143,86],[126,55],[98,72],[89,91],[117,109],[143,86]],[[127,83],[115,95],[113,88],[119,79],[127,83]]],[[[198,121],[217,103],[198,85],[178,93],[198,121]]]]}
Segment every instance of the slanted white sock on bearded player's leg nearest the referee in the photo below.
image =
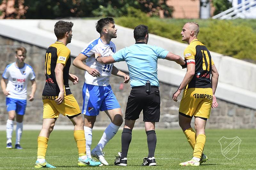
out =
{"type": "Polygon", "coordinates": [[[116,132],[118,131],[119,128],[120,126],[116,126],[114,123],[111,122],[108,125],[108,127],[105,129],[98,145],[95,148],[98,151],[99,150],[102,151],[105,145],[108,143],[108,141],[116,135],[116,132]]]}

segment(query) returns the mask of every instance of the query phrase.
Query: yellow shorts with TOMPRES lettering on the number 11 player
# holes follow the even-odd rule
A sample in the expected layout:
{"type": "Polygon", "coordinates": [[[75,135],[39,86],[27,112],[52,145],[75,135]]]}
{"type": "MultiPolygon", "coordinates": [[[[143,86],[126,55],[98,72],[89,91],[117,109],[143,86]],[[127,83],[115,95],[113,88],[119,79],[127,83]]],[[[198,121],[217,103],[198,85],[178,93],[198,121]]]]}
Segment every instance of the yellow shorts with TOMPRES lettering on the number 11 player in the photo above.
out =
{"type": "Polygon", "coordinates": [[[189,88],[183,91],[180,115],[209,119],[212,108],[212,88],[189,88]]]}

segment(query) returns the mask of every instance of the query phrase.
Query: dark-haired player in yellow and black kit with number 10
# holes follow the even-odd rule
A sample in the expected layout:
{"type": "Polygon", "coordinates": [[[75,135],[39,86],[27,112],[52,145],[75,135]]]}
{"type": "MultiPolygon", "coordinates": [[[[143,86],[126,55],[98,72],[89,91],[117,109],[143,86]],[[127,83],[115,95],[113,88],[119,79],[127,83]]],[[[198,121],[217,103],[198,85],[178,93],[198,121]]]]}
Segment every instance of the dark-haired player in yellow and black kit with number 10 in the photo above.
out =
{"type": "Polygon", "coordinates": [[[37,138],[37,160],[35,168],[55,168],[45,161],[50,133],[60,113],[74,124],[74,138],[78,149],[78,166],[100,166],[100,162],[88,159],[85,150],[84,120],[76,99],[70,91],[68,80],[78,83],[78,77],[69,73],[70,50],[66,47],[72,39],[72,22],[58,21],[54,26],[57,41],[45,54],[46,82],[43,90],[43,126],[37,138]]]}

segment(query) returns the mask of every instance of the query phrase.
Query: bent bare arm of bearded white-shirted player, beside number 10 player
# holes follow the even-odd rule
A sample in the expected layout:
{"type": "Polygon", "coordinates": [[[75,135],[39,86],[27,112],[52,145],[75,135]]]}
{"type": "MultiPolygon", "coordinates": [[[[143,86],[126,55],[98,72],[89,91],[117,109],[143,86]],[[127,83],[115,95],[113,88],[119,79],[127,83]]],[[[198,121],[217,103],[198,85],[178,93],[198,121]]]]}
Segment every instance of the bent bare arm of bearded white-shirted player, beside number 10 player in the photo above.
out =
{"type": "Polygon", "coordinates": [[[73,65],[75,67],[77,67],[78,69],[81,70],[85,70],[87,71],[90,75],[92,75],[93,77],[98,77],[100,76],[100,72],[97,69],[94,68],[90,68],[89,66],[87,66],[86,64],[83,63],[83,61],[86,61],[88,57],[86,55],[83,55],[82,53],[80,53],[79,55],[77,55],[77,57],[74,59],[73,61],[73,65]]]}

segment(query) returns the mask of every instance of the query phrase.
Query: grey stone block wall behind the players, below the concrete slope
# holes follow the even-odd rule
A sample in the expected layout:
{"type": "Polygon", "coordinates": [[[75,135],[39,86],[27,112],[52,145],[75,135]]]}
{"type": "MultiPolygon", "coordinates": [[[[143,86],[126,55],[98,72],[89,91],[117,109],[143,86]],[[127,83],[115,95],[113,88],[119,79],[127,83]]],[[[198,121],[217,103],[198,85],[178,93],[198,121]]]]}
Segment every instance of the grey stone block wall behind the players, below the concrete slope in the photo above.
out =
{"type": "MultiPolygon", "coordinates": [[[[31,65],[36,73],[37,91],[35,100],[27,102],[26,115],[24,116],[25,124],[42,124],[43,117],[43,102],[42,91],[45,84],[44,76],[44,48],[39,48],[31,44],[12,40],[0,36],[0,74],[2,75],[6,65],[15,61],[15,48],[24,46],[27,48],[26,63],[31,65]]],[[[79,84],[72,85],[69,83],[71,92],[74,94],[81,109],[83,106],[82,87],[84,84],[84,71],[77,69],[73,65],[70,67],[70,73],[76,74],[79,77],[79,84]]],[[[221,76],[221,75],[220,75],[221,76]]],[[[123,84],[123,78],[111,76],[110,85],[116,95],[116,98],[121,106],[123,115],[125,113],[126,102],[130,94],[130,83],[123,84]]],[[[6,124],[8,113],[5,106],[5,96],[0,88],[0,124],[6,124]]],[[[179,101],[172,100],[172,94],[177,90],[176,86],[160,82],[161,96],[161,117],[160,122],[156,123],[156,128],[179,128],[178,110],[180,105],[181,94],[178,97],[179,101]]],[[[28,85],[28,95],[31,91],[31,83],[28,85]]],[[[219,107],[212,109],[211,117],[207,121],[206,128],[256,128],[256,110],[238,106],[233,103],[218,99],[219,107]]],[[[135,127],[144,127],[142,121],[143,115],[136,121],[135,127]]],[[[192,119],[192,122],[194,120],[192,119]]],[[[67,117],[60,115],[57,124],[72,125],[67,117]]],[[[104,112],[100,112],[97,116],[95,126],[107,126],[110,123],[108,116],[104,112]]],[[[192,123],[193,124],[193,123],[192,123]]]]}

